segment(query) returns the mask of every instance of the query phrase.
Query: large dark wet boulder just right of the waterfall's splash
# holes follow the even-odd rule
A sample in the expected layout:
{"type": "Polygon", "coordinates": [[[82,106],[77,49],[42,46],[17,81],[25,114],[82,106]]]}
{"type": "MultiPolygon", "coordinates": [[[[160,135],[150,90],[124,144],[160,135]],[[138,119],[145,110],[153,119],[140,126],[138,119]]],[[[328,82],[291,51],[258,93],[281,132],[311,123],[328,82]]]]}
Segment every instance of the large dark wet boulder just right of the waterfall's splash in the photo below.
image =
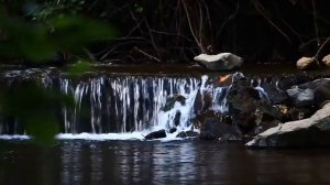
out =
{"type": "Polygon", "coordinates": [[[228,102],[232,123],[238,126],[243,134],[255,135],[258,128],[274,126],[273,122],[280,120],[282,113],[272,102],[283,102],[288,96],[268,85],[268,98],[262,96],[265,94],[263,89],[251,87],[244,78],[235,81],[229,89],[228,102]]]}

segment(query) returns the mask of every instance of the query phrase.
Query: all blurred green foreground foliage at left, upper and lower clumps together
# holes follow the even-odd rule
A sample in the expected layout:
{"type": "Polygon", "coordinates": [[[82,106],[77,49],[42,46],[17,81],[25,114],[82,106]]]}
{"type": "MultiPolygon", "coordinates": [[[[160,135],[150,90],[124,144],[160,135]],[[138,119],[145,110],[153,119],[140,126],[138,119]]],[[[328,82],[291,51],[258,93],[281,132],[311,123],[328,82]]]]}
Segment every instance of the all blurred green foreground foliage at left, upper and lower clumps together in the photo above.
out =
{"type": "MultiPolygon", "coordinates": [[[[4,1],[0,4],[0,64],[19,58],[40,66],[68,53],[74,62],[85,61],[69,67],[69,73],[88,70],[88,45],[109,42],[117,31],[110,23],[80,14],[82,4],[76,0],[4,1]]],[[[13,88],[0,88],[0,113],[15,118],[40,144],[53,143],[59,132],[56,108],[73,105],[73,97],[37,81],[22,79],[13,88]]]]}

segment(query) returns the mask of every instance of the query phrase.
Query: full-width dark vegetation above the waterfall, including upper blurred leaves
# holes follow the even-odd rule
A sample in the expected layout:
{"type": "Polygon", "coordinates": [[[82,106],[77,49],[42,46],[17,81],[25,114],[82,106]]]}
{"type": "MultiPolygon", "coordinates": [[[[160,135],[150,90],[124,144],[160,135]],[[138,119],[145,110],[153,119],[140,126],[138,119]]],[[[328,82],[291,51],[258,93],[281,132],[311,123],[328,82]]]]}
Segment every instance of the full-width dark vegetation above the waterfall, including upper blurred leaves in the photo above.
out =
{"type": "Polygon", "coordinates": [[[231,52],[251,63],[294,63],[314,56],[329,36],[327,2],[3,0],[1,42],[20,46],[2,44],[1,53],[55,63],[186,63],[199,53],[231,52]]]}

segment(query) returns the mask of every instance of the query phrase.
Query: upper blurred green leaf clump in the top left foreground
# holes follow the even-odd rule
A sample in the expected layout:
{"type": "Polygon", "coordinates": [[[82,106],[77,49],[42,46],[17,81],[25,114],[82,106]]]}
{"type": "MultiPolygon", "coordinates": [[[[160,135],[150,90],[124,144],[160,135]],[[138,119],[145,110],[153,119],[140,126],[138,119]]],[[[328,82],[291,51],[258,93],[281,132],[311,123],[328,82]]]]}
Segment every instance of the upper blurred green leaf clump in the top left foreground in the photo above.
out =
{"type": "Polygon", "coordinates": [[[2,58],[19,57],[36,63],[52,61],[58,52],[81,53],[89,43],[110,41],[116,34],[112,26],[101,21],[63,13],[47,14],[45,22],[2,14],[0,28],[2,58]]]}

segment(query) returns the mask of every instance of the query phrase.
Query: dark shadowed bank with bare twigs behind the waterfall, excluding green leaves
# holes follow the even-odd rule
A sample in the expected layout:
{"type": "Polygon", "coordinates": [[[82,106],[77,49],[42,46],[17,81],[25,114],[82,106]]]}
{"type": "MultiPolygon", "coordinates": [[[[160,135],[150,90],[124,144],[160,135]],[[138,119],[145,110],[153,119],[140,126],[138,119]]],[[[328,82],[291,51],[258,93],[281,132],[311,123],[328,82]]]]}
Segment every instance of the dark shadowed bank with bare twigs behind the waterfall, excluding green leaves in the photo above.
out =
{"type": "Polygon", "coordinates": [[[327,0],[92,2],[86,1],[84,12],[116,23],[122,33],[96,52],[101,62],[187,63],[200,53],[231,52],[246,62],[294,63],[314,55],[330,31],[327,0]]]}

